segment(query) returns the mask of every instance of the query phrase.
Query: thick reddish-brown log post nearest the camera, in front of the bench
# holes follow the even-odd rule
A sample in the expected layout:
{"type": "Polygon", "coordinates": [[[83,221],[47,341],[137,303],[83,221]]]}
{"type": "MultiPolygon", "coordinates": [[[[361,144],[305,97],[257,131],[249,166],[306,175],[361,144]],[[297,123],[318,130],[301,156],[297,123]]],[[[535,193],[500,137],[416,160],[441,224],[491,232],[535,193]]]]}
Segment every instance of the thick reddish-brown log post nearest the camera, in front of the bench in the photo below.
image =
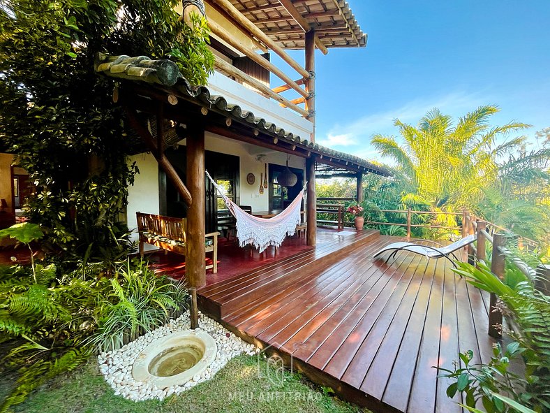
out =
{"type": "MultiPolygon", "coordinates": [[[[193,202],[187,208],[185,267],[189,286],[196,289],[206,284],[205,130],[188,126],[187,131],[187,187],[193,202]]],[[[196,305],[196,300],[191,304],[196,305]]],[[[191,316],[193,314],[196,316],[196,308],[191,310],[191,316]]],[[[193,322],[197,325],[196,317],[191,318],[191,324],[193,322]]]]}

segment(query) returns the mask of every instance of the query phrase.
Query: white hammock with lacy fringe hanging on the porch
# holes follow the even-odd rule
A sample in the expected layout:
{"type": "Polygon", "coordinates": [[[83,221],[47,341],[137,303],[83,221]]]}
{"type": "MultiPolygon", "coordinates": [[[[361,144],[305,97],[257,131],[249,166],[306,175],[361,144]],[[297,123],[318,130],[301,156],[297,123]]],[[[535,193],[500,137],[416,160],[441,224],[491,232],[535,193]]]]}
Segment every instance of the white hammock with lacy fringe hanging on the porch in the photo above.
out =
{"type": "Polygon", "coordinates": [[[301,222],[300,207],[304,198],[306,185],[304,185],[302,191],[300,191],[295,200],[283,212],[272,218],[259,218],[241,210],[239,205],[225,196],[223,188],[216,184],[208,171],[206,174],[214,187],[218,189],[228,210],[230,210],[237,220],[237,238],[241,247],[252,244],[262,252],[269,245],[280,247],[286,236],[294,235],[296,226],[301,222]]]}

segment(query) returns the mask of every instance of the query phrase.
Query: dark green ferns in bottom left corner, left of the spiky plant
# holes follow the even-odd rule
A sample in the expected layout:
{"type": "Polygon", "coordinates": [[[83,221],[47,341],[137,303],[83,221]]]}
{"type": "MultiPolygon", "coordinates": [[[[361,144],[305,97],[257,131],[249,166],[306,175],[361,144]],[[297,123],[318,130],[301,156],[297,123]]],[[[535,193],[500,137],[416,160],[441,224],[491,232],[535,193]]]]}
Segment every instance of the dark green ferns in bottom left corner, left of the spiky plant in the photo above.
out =
{"type": "Polygon", "coordinates": [[[37,264],[32,275],[27,268],[0,267],[0,332],[2,341],[11,340],[6,360],[19,372],[16,388],[0,412],[91,354],[82,345],[87,332],[80,319],[93,306],[94,289],[78,280],[61,285],[56,277],[53,264],[37,264]]]}

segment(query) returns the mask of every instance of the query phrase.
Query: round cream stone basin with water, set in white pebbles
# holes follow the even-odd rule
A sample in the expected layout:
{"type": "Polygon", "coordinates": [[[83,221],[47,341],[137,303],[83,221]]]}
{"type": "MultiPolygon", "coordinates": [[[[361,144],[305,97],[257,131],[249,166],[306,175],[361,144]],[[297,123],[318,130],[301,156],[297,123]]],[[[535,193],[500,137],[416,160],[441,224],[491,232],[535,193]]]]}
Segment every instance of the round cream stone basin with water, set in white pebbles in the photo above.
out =
{"type": "Polygon", "coordinates": [[[216,359],[218,347],[204,331],[181,331],[158,338],[137,356],[132,376],[158,389],[181,386],[200,375],[216,359]]]}

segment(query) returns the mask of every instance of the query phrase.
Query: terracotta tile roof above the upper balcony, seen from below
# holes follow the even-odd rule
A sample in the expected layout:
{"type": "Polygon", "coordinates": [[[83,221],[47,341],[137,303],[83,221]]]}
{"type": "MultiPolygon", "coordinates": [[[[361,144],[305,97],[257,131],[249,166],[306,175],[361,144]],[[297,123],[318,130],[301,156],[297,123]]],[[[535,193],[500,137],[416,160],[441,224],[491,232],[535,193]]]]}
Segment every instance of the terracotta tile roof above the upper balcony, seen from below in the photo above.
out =
{"type": "MultiPolygon", "coordinates": [[[[281,47],[304,49],[304,30],[278,0],[231,0],[231,3],[281,47]]],[[[348,1],[294,0],[293,5],[327,48],[366,46],[367,36],[357,24],[348,1]]]]}

